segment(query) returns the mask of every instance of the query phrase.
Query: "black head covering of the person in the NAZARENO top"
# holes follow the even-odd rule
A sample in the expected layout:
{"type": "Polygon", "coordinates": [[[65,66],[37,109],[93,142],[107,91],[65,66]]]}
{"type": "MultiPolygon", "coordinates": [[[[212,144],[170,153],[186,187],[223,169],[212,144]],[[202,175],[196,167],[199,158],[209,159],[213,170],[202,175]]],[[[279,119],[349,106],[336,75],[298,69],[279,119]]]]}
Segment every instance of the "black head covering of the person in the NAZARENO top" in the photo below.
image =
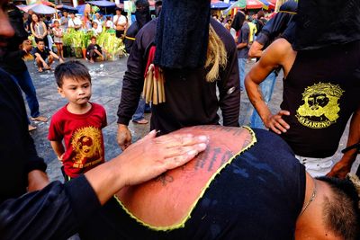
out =
{"type": "Polygon", "coordinates": [[[360,40],[360,1],[302,0],[295,21],[295,50],[360,40]]]}

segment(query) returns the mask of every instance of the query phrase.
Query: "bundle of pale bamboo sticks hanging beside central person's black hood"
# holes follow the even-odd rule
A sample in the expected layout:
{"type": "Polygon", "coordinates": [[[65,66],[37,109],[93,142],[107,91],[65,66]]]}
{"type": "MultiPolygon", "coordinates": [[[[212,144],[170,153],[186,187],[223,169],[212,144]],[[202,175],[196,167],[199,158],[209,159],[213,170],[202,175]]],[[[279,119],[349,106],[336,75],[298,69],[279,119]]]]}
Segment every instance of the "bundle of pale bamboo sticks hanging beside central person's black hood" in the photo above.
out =
{"type": "Polygon", "coordinates": [[[142,93],[146,103],[152,102],[152,104],[157,105],[165,102],[164,74],[159,68],[156,75],[153,64],[148,66],[142,93]]]}

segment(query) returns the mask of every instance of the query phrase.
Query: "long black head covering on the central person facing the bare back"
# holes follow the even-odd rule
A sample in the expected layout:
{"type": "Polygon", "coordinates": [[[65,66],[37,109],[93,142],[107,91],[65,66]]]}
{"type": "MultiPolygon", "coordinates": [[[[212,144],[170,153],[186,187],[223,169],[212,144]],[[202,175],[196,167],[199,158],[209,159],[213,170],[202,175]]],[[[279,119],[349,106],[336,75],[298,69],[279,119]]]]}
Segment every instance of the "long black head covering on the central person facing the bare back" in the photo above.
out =
{"type": "Polygon", "coordinates": [[[164,0],[157,20],[154,63],[176,69],[203,67],[209,22],[210,0],[164,0]]]}

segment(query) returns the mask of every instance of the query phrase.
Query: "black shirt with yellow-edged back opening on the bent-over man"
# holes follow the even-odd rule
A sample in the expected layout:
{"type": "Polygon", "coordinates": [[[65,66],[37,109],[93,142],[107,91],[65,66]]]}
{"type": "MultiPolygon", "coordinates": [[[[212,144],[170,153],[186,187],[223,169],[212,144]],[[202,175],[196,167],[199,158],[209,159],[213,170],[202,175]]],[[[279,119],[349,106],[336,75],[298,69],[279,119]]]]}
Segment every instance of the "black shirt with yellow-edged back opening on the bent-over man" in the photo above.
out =
{"type": "Polygon", "coordinates": [[[304,166],[274,133],[255,132],[256,145],[216,176],[184,227],[150,230],[112,200],[88,219],[81,239],[293,239],[305,196],[304,166]]]}

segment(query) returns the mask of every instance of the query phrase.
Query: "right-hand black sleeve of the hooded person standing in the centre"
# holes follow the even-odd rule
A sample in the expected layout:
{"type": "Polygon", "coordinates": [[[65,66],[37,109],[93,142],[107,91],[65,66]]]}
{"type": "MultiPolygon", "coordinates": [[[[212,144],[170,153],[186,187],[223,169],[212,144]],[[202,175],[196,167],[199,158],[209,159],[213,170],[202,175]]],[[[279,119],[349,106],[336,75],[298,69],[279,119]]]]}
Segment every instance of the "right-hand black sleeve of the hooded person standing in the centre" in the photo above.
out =
{"type": "Polygon", "coordinates": [[[238,127],[238,115],[240,110],[240,90],[238,80],[238,51],[235,42],[225,43],[228,51],[228,64],[220,72],[218,87],[220,92],[220,109],[222,112],[223,125],[238,127]]]}

